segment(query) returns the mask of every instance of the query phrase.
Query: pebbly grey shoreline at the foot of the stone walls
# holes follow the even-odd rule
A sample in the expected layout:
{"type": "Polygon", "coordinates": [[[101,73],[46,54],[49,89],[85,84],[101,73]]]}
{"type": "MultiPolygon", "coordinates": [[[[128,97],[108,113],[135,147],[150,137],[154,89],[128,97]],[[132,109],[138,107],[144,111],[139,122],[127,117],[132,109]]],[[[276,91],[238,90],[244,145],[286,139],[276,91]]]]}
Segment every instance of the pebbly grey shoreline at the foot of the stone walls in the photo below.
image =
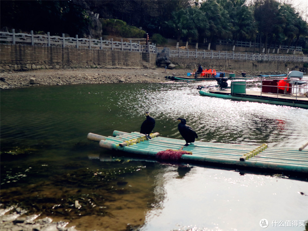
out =
{"type": "MultiPolygon", "coordinates": [[[[166,75],[187,76],[188,69],[164,68],[76,68],[76,69],[36,69],[31,71],[10,71],[1,73],[0,88],[30,87],[38,85],[64,85],[89,83],[161,83],[168,80],[166,75]]],[[[241,76],[242,70],[225,71],[241,76]]],[[[245,71],[247,75],[285,74],[283,71],[263,73],[245,71]]],[[[229,76],[229,75],[228,75],[229,76]]],[[[226,77],[228,77],[226,76],[226,77]]]]}

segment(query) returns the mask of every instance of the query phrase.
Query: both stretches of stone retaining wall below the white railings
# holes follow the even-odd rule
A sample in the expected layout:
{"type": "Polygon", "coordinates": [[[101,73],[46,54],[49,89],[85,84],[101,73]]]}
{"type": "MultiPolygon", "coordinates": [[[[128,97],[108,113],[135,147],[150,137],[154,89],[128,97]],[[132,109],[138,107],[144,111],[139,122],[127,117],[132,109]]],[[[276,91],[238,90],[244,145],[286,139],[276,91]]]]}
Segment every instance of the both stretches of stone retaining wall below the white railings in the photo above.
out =
{"type": "MultiPolygon", "coordinates": [[[[156,67],[156,54],[131,51],[78,49],[73,47],[43,47],[29,45],[0,45],[0,70],[60,68],[156,67]],[[144,56],[144,57],[143,57],[144,56]]],[[[168,60],[183,68],[194,69],[200,63],[204,68],[219,71],[299,71],[303,62],[251,61],[232,59],[197,59],[170,57],[168,60]]]]}

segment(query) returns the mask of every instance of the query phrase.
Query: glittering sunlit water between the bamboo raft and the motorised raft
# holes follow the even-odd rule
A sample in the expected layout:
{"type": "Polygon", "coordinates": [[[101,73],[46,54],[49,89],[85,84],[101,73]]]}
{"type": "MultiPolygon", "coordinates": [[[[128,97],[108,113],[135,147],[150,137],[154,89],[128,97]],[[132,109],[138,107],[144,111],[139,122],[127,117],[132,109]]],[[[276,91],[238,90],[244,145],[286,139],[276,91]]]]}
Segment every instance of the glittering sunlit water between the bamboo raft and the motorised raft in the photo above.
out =
{"type": "MultiPolygon", "coordinates": [[[[139,94],[136,92],[140,101],[130,106],[132,112],[142,114],[148,110],[161,123],[185,118],[187,124],[200,134],[200,140],[207,142],[270,142],[273,146],[294,147],[306,139],[299,126],[304,123],[307,128],[305,109],[205,97],[199,95],[195,83],[162,85],[164,88],[160,91],[152,88],[142,89],[139,94]],[[281,136],[287,136],[283,143],[281,136]]],[[[177,133],[176,126],[170,130],[174,132],[172,135],[177,133]]]]}

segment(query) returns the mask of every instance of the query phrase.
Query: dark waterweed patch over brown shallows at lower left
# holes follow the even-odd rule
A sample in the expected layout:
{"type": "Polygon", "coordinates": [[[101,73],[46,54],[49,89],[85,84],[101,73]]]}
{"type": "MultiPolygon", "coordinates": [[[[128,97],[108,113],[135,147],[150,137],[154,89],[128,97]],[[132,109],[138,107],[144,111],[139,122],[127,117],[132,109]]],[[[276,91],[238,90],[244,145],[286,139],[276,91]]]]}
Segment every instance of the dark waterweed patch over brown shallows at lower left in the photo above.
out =
{"type": "MultiPolygon", "coordinates": [[[[22,188],[2,190],[1,203],[18,205],[28,213],[62,216],[72,219],[80,216],[113,216],[104,205],[115,201],[114,195],[128,193],[122,181],[114,187],[120,176],[141,170],[141,166],[113,168],[111,170],[73,170],[51,177],[50,181],[27,185],[22,188]]],[[[121,178],[123,179],[123,177],[121,178]]]]}

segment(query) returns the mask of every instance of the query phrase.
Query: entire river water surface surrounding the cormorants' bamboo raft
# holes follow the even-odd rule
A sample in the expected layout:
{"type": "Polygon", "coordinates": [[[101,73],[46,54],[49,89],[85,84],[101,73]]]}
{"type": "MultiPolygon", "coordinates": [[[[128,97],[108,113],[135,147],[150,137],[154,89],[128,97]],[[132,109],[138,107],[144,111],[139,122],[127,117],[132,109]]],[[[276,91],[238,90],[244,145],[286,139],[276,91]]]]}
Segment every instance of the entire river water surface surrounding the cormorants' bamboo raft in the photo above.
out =
{"type": "Polygon", "coordinates": [[[84,231],[127,224],[141,231],[304,230],[305,177],[163,164],[87,140],[88,132],[140,131],[150,111],[153,132],[165,137],[182,139],[181,117],[201,141],[294,149],[306,143],[308,110],[201,96],[198,84],[216,81],[1,90],[1,202],[84,231]]]}

